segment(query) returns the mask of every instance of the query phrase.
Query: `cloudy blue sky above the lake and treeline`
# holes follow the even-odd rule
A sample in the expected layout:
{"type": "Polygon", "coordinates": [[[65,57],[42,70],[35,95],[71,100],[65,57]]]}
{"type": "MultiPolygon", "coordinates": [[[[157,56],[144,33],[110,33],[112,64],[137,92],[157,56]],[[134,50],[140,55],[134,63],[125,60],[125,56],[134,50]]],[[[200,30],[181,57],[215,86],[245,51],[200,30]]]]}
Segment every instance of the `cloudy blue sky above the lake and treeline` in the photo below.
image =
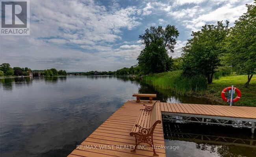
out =
{"type": "Polygon", "coordinates": [[[169,56],[205,24],[234,26],[253,0],[30,0],[30,35],[0,36],[0,64],[32,70],[113,71],[137,63],[150,26],[174,25],[169,56]]]}

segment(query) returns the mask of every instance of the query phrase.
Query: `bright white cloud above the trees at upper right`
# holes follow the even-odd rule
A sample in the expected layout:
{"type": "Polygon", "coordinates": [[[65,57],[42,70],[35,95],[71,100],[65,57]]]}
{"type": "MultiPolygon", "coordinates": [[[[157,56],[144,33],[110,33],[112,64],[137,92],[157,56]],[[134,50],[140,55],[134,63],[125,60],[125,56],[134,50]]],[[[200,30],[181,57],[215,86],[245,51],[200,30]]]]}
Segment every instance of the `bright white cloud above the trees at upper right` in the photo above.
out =
{"type": "Polygon", "coordinates": [[[175,5],[193,4],[184,9],[175,9],[168,12],[168,15],[180,21],[182,26],[191,31],[198,31],[205,24],[216,24],[217,21],[228,20],[230,26],[233,25],[243,13],[247,11],[246,3],[252,3],[252,0],[179,0],[175,5]],[[207,5],[202,5],[207,2],[207,5]],[[221,6],[217,6],[220,5],[221,6]]]}

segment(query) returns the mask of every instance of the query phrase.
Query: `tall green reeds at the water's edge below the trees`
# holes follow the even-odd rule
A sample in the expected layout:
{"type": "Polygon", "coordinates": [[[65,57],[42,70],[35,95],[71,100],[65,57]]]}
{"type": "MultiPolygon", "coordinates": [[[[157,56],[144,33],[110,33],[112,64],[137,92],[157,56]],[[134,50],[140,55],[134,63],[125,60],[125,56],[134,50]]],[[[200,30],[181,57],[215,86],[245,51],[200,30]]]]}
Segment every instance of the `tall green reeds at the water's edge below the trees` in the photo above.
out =
{"type": "Polygon", "coordinates": [[[146,80],[146,83],[153,85],[155,88],[171,89],[176,94],[180,95],[202,94],[207,87],[204,76],[187,78],[182,76],[180,70],[150,74],[144,76],[143,79],[146,80]]]}

